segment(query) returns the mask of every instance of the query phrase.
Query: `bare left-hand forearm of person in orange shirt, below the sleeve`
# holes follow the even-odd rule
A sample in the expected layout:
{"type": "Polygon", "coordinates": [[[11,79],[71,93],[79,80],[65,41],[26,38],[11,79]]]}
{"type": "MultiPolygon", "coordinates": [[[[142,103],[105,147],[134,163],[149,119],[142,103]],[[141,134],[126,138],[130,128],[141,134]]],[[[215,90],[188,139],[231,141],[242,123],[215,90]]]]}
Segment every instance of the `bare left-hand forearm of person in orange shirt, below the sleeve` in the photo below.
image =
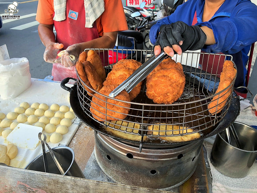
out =
{"type": "Polygon", "coordinates": [[[53,25],[39,24],[38,34],[42,43],[47,47],[49,44],[55,42],[55,34],[53,33],[53,25]]]}

